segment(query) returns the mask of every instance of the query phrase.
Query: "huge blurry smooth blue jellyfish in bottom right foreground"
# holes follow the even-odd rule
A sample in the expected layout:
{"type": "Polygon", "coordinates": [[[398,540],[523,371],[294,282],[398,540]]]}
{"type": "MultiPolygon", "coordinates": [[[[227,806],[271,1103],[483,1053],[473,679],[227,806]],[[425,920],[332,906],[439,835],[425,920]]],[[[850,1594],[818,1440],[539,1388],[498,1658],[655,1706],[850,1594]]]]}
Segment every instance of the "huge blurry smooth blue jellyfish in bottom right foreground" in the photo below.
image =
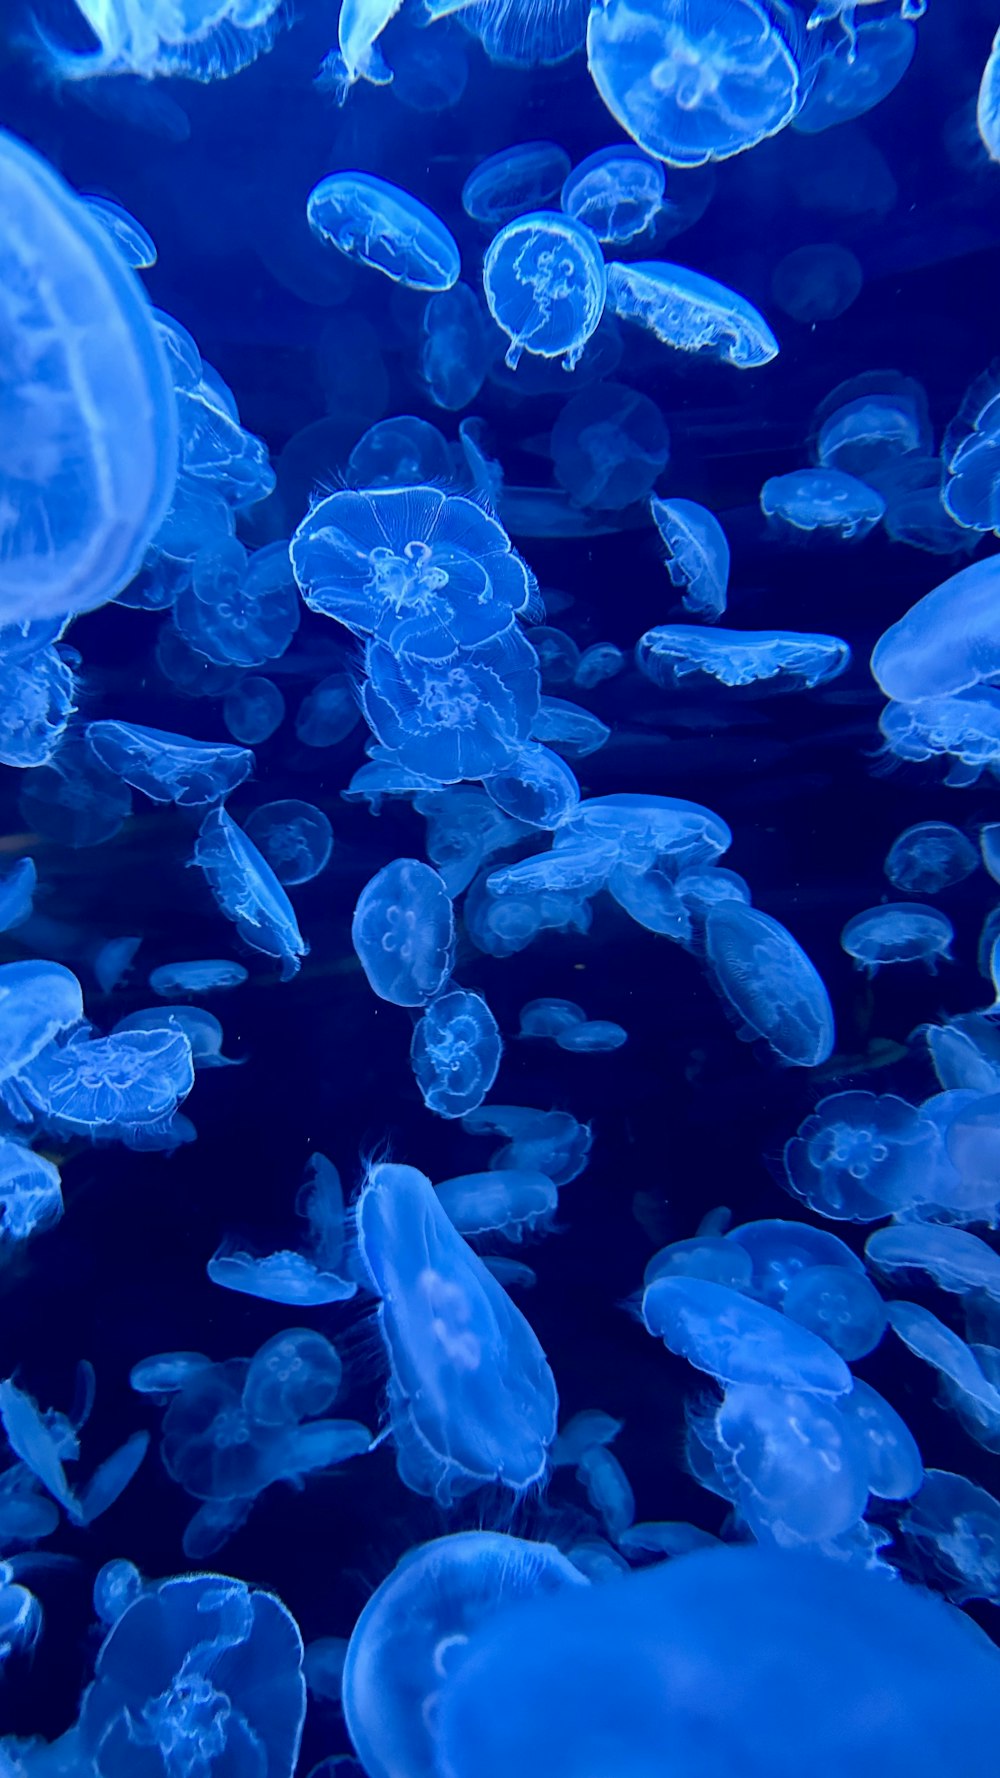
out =
{"type": "Polygon", "coordinates": [[[441,1778],[593,1769],[989,1778],[1000,1661],[936,1598],[829,1558],[714,1549],[534,1598],[472,1643],[441,1778]]]}

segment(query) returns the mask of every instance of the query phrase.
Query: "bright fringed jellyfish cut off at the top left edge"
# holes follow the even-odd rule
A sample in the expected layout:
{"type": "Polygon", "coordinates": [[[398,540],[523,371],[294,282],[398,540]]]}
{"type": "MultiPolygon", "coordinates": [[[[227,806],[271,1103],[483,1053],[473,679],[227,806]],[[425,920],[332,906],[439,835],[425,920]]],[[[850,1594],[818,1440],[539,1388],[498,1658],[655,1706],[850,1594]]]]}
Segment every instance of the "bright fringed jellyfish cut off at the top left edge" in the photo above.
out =
{"type": "Polygon", "coordinates": [[[183,14],[162,0],[77,0],[98,48],[77,53],[39,30],[55,80],[107,75],[178,75],[224,80],[270,50],[286,11],[281,0],[190,0],[183,14]]]}

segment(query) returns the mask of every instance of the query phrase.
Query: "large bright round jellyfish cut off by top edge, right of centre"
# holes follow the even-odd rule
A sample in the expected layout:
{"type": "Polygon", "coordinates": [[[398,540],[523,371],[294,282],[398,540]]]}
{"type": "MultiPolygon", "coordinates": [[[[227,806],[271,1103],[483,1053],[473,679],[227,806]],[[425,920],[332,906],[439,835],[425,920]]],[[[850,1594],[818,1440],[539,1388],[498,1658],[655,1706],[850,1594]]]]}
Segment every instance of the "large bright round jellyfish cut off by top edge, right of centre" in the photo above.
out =
{"type": "Polygon", "coordinates": [[[728,160],[799,107],[797,21],[760,0],[598,0],[587,64],[616,123],[673,167],[728,160]]]}

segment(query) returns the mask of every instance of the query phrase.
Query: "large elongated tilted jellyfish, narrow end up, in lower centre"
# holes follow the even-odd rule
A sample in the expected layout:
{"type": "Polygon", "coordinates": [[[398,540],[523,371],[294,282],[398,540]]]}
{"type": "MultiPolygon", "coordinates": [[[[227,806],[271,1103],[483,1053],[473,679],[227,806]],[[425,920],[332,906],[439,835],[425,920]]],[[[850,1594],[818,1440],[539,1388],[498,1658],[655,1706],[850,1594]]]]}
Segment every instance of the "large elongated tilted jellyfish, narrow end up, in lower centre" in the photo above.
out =
{"type": "Polygon", "coordinates": [[[416,1168],[370,1168],[356,1216],[402,1481],[443,1506],[486,1483],[532,1488],[559,1410],[532,1328],[416,1168]]]}

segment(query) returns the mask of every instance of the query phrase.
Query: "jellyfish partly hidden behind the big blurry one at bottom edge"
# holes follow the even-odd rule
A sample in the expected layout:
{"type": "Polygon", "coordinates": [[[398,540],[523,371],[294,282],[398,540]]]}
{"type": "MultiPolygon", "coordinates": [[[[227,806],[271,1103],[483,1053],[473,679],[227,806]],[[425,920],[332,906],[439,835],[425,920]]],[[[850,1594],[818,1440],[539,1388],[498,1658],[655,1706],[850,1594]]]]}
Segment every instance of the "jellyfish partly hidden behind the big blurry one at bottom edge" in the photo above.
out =
{"type": "Polygon", "coordinates": [[[552,1543],[502,1531],[411,1549],[372,1593],[343,1664],[343,1716],[368,1778],[434,1778],[441,1691],[472,1638],[518,1600],[584,1586],[552,1543]]]}

